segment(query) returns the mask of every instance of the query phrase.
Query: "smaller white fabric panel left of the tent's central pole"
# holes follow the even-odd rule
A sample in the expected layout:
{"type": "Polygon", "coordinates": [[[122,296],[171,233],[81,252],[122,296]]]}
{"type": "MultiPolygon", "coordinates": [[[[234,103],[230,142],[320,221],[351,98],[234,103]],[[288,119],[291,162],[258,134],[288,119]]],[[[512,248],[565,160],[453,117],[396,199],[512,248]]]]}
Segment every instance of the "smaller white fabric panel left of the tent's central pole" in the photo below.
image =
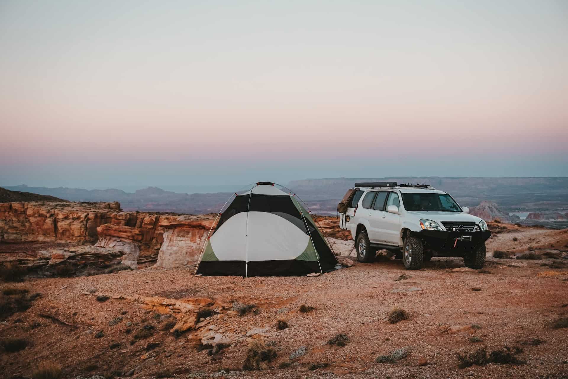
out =
{"type": "Polygon", "coordinates": [[[227,219],[211,236],[211,248],[222,261],[244,261],[247,234],[247,212],[227,219]]]}

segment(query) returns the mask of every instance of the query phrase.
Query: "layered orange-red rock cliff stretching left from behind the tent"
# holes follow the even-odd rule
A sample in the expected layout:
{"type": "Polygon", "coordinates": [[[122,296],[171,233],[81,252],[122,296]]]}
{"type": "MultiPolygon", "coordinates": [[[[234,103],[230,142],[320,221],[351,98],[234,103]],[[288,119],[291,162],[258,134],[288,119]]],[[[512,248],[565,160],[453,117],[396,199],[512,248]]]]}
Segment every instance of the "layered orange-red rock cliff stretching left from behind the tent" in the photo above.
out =
{"type": "Polygon", "coordinates": [[[215,215],[124,212],[118,202],[0,203],[0,243],[69,242],[118,249],[123,263],[197,263],[215,215]]]}

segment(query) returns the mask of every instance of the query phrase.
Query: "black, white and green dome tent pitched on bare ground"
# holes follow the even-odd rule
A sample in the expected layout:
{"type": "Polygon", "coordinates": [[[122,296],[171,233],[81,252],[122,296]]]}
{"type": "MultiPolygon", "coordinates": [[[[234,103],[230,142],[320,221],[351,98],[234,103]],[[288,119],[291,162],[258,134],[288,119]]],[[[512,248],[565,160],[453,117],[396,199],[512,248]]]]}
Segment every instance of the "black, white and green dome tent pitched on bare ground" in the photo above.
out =
{"type": "Polygon", "coordinates": [[[195,273],[303,276],[337,265],[295,194],[270,182],[258,182],[234,197],[208,236],[195,273]]]}

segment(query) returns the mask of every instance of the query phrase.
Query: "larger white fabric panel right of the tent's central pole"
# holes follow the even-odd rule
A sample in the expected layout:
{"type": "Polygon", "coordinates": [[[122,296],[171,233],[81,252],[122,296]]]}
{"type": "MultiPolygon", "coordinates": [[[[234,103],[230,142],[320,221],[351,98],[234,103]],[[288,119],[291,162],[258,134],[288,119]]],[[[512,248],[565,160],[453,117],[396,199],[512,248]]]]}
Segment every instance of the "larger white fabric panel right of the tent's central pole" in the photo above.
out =
{"type": "MultiPolygon", "coordinates": [[[[216,234],[219,234],[219,231],[216,234]]],[[[306,249],[309,240],[310,236],[281,216],[267,212],[249,212],[247,239],[249,262],[294,259],[306,249]]],[[[216,253],[215,246],[213,251],[216,253]]]]}

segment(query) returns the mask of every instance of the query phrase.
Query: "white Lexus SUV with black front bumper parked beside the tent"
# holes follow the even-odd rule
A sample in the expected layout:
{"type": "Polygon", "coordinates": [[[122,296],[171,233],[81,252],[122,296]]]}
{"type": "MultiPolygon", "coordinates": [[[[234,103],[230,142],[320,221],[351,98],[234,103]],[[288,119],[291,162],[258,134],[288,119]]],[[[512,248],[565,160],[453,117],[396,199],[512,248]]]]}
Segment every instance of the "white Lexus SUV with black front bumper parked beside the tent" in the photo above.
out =
{"type": "Polygon", "coordinates": [[[487,223],[431,186],[356,183],[337,210],[361,262],[372,262],[377,250],[386,249],[402,258],[407,270],[420,269],[432,256],[463,257],[473,269],[485,264],[487,223]]]}

